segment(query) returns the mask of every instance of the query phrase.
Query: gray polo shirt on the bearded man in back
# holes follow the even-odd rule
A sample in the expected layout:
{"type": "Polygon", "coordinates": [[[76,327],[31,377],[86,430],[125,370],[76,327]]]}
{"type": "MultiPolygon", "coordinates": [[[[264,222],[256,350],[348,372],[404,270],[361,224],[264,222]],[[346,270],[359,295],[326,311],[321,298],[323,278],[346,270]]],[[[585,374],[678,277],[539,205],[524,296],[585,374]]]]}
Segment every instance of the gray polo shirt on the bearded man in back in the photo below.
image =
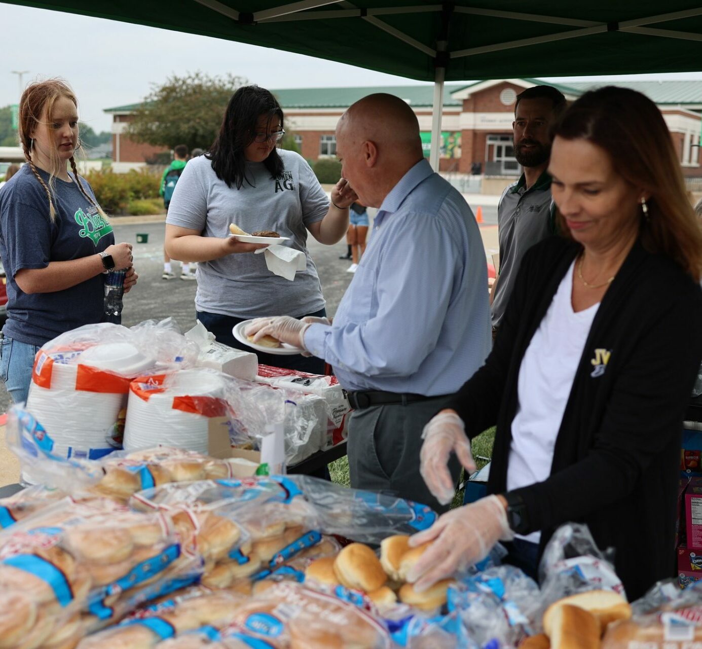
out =
{"type": "Polygon", "coordinates": [[[522,173],[503,192],[497,208],[500,279],[492,302],[493,327],[499,327],[505,314],[524,253],[555,231],[553,216],[551,177],[545,171],[531,188],[522,173]]]}

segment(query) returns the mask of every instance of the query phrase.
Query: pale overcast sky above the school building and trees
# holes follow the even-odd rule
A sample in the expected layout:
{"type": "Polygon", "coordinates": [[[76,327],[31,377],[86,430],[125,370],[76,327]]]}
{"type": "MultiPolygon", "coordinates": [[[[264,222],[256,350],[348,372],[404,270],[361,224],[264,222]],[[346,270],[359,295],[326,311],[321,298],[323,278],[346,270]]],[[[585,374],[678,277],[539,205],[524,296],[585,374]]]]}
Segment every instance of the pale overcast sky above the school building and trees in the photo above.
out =
{"type": "MultiPolygon", "coordinates": [[[[178,11],[177,3],[171,11],[178,11]]],[[[64,77],[76,91],[81,120],[95,131],[110,130],[112,117],[102,112],[105,108],[138,102],[151,84],[173,73],[232,72],[269,89],[420,83],[233,41],[1,1],[0,61],[0,106],[18,102],[18,75],[12,70],[29,70],[24,84],[37,77],[64,77]]],[[[588,78],[595,77],[571,80],[588,78]]],[[[601,78],[702,79],[702,72],[601,78]]]]}

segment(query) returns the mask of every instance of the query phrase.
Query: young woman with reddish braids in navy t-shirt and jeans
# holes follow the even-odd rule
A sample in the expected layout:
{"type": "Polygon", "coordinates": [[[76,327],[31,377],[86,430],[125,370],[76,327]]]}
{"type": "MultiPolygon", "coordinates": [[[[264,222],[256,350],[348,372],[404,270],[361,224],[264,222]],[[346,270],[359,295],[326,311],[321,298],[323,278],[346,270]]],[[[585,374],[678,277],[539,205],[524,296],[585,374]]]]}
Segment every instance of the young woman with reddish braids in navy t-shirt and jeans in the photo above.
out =
{"type": "Polygon", "coordinates": [[[22,93],[19,113],[27,164],[0,195],[0,256],[8,294],[0,372],[15,403],[27,400],[39,347],[103,320],[103,273],[128,268],[125,291],[138,277],[131,245],[114,244],[112,226],[78,175],[73,91],[60,79],[31,84],[22,93]]]}

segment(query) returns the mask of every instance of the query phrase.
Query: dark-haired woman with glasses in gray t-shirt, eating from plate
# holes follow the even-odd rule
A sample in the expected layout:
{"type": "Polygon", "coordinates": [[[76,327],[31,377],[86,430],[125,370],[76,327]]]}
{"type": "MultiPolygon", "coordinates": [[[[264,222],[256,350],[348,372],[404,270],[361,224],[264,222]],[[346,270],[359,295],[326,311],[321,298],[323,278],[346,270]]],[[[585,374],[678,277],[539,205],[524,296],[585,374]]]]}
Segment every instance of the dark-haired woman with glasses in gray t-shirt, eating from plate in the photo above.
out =
{"type": "MultiPolygon", "coordinates": [[[[232,334],[243,320],[326,315],[307,232],[323,244],[338,242],[356,199],[342,178],[330,203],[305,159],[277,148],[284,133],[283,111],[269,91],[237,90],[211,149],[183,170],[166,218],[168,254],[199,262],[197,319],[218,341],[248,351],[232,334]],[[244,254],[264,246],[229,237],[230,223],[246,232],[273,230],[289,237],[281,244],[305,254],[305,270],[293,282],[273,275],[263,254],[244,254]]],[[[324,361],[317,358],[257,354],[268,365],[324,373],[324,361]]]]}

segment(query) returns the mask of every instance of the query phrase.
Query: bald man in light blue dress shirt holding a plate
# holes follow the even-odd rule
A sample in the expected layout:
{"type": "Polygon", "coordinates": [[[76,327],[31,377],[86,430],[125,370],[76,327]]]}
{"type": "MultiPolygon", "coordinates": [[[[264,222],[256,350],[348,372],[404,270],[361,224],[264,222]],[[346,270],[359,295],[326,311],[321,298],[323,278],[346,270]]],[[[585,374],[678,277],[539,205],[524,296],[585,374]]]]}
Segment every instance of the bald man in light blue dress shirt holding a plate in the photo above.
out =
{"type": "MultiPolygon", "coordinates": [[[[262,318],[247,333],[333,365],[354,408],[352,487],[443,511],[419,473],[421,434],[489,353],[480,233],[461,194],[424,159],[417,118],[399,98],[352,105],[336,127],[336,154],[349,190],[378,214],[333,325],[262,318]]],[[[456,459],[450,468],[458,480],[456,459]]]]}

